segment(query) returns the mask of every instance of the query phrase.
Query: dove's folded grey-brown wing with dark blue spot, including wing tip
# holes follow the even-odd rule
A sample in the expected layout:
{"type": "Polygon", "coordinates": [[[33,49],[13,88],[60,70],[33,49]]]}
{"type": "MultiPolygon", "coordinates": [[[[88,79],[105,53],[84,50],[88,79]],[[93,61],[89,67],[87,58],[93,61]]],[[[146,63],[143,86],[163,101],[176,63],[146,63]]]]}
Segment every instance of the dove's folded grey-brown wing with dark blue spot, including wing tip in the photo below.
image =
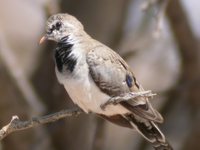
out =
{"type": "MultiPolygon", "coordinates": [[[[107,95],[114,97],[128,92],[143,91],[127,63],[105,45],[98,44],[90,49],[86,60],[92,79],[107,95]]],[[[135,98],[120,104],[141,118],[163,122],[162,116],[153,109],[146,98],[135,98]]]]}

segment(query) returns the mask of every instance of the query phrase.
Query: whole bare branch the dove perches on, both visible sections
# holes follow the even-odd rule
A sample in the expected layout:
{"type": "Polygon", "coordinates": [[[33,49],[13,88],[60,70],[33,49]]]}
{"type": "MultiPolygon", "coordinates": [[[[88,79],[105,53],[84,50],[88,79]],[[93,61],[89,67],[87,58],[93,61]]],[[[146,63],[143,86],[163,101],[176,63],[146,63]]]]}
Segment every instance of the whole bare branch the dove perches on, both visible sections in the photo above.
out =
{"type": "MultiPolygon", "coordinates": [[[[125,93],[123,95],[110,98],[105,104],[101,106],[101,108],[105,109],[107,105],[111,105],[111,104],[116,105],[119,102],[129,101],[137,97],[152,97],[154,95],[155,94],[153,94],[151,91],[125,93]]],[[[28,121],[21,121],[18,116],[13,116],[10,123],[4,126],[0,130],[0,140],[4,139],[7,135],[13,132],[37,127],[38,125],[42,125],[46,123],[55,122],[65,117],[77,116],[81,114],[82,112],[83,110],[81,110],[80,108],[74,108],[70,110],[67,109],[67,110],[62,110],[54,114],[50,114],[50,115],[46,115],[42,117],[33,117],[32,119],[28,121]]]]}

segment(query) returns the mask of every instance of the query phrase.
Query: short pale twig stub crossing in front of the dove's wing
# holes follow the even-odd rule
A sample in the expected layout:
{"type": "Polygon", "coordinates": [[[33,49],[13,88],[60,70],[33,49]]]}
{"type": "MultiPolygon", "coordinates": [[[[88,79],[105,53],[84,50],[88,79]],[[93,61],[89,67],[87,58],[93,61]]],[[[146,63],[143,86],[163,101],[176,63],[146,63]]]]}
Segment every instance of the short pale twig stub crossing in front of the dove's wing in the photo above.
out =
{"type": "Polygon", "coordinates": [[[153,97],[156,94],[152,93],[152,91],[140,91],[140,92],[130,92],[130,93],[124,93],[119,96],[111,97],[107,102],[101,105],[101,109],[105,109],[106,106],[108,105],[117,105],[120,102],[123,101],[129,101],[133,100],[138,97],[144,97],[144,98],[149,98],[153,97]]]}

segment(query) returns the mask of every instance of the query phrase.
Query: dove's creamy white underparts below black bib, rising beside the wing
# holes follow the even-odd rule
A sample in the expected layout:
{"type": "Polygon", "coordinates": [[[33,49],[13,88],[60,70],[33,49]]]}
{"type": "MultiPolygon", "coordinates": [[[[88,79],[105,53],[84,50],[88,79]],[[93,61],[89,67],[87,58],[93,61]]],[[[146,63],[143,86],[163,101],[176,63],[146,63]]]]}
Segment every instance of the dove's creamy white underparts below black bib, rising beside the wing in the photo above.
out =
{"type": "Polygon", "coordinates": [[[109,100],[110,96],[103,93],[94,83],[84,59],[77,61],[73,74],[61,73],[57,69],[56,74],[59,82],[64,85],[72,101],[86,113],[94,112],[104,115],[115,115],[128,112],[121,105],[110,105],[105,110],[101,109],[101,104],[109,100]]]}

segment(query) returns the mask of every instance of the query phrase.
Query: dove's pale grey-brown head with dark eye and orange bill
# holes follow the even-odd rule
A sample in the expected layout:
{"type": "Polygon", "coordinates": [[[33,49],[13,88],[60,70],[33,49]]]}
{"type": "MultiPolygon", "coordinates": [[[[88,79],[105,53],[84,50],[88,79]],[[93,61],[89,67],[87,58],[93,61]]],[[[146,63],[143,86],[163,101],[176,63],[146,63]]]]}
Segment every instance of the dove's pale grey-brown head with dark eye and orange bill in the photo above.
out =
{"type": "Polygon", "coordinates": [[[49,17],[46,23],[46,34],[41,38],[40,44],[46,40],[61,41],[84,31],[83,25],[69,14],[55,14],[49,17]]]}

